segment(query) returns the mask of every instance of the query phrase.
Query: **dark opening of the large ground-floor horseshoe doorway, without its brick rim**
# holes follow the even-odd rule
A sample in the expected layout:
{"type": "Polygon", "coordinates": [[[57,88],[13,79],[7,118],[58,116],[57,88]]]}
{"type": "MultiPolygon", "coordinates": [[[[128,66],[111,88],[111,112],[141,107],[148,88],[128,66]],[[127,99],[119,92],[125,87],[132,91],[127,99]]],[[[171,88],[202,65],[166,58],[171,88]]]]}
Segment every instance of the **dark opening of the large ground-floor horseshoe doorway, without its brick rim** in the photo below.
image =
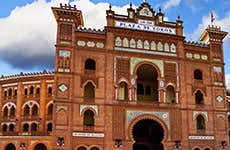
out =
{"type": "Polygon", "coordinates": [[[133,150],[164,150],[163,127],[155,120],[143,119],[133,127],[133,150]]]}

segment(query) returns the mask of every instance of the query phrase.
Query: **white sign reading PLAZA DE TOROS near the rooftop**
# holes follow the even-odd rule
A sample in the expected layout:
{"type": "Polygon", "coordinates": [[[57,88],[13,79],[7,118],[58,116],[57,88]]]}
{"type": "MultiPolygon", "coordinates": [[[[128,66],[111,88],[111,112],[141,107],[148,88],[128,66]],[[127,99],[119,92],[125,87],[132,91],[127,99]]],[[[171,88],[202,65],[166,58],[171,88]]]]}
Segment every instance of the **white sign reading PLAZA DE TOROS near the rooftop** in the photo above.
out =
{"type": "Polygon", "coordinates": [[[137,24],[131,22],[115,21],[115,27],[143,30],[143,31],[150,31],[150,32],[167,33],[167,34],[176,34],[176,30],[172,28],[137,24]]]}

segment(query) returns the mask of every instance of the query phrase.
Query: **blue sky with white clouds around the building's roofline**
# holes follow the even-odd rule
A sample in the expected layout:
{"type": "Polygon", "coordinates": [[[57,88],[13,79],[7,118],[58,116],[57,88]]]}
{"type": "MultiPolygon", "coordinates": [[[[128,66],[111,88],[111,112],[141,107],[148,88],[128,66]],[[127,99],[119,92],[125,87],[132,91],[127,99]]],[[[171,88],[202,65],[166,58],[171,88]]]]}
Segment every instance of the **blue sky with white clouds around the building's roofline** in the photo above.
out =
{"type": "MultiPolygon", "coordinates": [[[[59,3],[77,5],[86,27],[103,29],[109,4],[116,13],[126,14],[129,3],[139,6],[143,0],[0,0],[0,75],[53,70],[56,22],[51,7],[59,3]]],[[[184,21],[187,40],[197,41],[210,24],[230,32],[230,0],[147,0],[154,10],[162,8],[166,19],[184,21]]],[[[225,73],[230,88],[230,35],[224,40],[225,73]]]]}

